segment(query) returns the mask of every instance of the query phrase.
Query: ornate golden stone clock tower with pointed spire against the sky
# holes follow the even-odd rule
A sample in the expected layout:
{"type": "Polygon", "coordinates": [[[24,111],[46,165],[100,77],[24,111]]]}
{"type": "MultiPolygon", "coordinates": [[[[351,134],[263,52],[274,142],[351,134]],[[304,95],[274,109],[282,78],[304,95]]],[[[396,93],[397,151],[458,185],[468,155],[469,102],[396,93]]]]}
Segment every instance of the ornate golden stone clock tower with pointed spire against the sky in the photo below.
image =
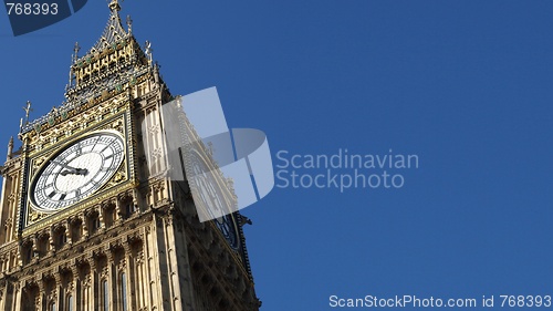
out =
{"type": "MultiPolygon", "coordinates": [[[[8,145],[0,197],[0,311],[259,310],[242,226],[232,212],[201,222],[199,205],[236,205],[232,183],[173,180],[217,172],[200,139],[182,149],[165,124],[197,137],[112,0],[96,44],[75,45],[65,102],[21,124],[8,145]],[[171,155],[173,153],[173,155],[171,155]],[[180,156],[182,167],[168,158],[180,156]],[[191,188],[200,189],[195,201],[191,188]],[[222,203],[222,204],[221,204],[222,203]]],[[[29,108],[29,106],[28,106],[29,108]]]]}

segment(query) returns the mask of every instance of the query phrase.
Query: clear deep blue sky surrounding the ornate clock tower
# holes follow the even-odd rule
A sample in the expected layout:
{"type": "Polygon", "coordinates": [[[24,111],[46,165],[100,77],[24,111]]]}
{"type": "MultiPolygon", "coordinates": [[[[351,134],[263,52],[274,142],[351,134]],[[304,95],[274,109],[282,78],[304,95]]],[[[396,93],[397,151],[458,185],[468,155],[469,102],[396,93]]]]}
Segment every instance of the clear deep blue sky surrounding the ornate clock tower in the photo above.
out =
{"type": "MultiPolygon", "coordinates": [[[[262,310],[553,294],[551,1],[125,1],[122,14],[174,94],[217,86],[229,126],[265,132],[274,165],[279,151],[419,157],[395,172],[401,188],[275,187],[244,209],[262,310]]],[[[0,13],[0,146],[27,101],[34,117],[61,104],[74,42],[82,55],[107,17],[90,1],[13,38],[0,13]]]]}

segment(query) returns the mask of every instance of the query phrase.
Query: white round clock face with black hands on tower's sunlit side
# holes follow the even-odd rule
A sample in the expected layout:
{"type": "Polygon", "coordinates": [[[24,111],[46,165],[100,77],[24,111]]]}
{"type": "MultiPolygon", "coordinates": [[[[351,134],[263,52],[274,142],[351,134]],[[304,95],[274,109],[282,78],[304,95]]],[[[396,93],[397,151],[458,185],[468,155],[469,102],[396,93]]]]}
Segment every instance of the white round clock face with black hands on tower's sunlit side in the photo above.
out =
{"type": "Polygon", "coordinates": [[[111,132],[80,138],[48,159],[31,184],[36,209],[54,211],[94,194],[117,172],[123,139],[111,132]]]}

